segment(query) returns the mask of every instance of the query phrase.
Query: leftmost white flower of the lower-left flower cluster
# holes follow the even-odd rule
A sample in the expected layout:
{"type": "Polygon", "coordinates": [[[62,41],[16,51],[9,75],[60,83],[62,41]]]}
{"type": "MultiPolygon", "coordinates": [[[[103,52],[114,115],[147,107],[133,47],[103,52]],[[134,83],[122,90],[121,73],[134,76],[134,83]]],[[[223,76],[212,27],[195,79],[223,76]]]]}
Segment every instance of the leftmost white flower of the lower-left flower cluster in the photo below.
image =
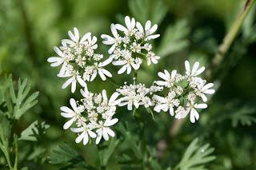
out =
{"type": "Polygon", "coordinates": [[[69,109],[66,106],[61,107],[62,117],[71,118],[70,121],[67,121],[63,125],[64,129],[70,128],[70,126],[74,123],[74,121],[76,121],[78,119],[78,117],[80,117],[81,110],[78,109],[77,104],[76,104],[76,102],[74,101],[73,98],[70,99],[70,105],[71,105],[73,110],[69,109]]]}

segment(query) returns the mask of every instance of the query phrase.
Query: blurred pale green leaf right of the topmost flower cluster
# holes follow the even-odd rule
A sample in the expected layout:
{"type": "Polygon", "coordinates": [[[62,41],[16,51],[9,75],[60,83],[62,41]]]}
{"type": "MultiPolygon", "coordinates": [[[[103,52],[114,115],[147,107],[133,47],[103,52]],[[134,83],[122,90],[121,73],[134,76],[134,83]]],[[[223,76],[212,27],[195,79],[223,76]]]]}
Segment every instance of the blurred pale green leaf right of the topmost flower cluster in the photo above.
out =
{"type": "Polygon", "coordinates": [[[186,20],[180,20],[169,26],[166,33],[162,35],[162,42],[158,47],[158,55],[166,57],[172,53],[177,53],[185,49],[189,44],[187,36],[190,34],[190,26],[186,20]]]}

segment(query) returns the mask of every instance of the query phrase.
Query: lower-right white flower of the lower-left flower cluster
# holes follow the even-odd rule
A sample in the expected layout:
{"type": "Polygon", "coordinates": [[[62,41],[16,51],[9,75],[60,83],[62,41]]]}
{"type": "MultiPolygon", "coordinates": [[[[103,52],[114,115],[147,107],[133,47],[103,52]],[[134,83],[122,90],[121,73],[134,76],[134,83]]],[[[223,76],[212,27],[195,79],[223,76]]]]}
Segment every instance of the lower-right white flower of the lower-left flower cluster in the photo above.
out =
{"type": "Polygon", "coordinates": [[[99,141],[102,139],[102,136],[104,140],[109,140],[110,136],[114,137],[114,131],[110,129],[110,126],[115,125],[118,123],[118,119],[114,118],[111,120],[106,120],[103,124],[102,121],[99,122],[100,128],[98,128],[97,132],[97,138],[96,138],[96,144],[99,143],[99,141]]]}

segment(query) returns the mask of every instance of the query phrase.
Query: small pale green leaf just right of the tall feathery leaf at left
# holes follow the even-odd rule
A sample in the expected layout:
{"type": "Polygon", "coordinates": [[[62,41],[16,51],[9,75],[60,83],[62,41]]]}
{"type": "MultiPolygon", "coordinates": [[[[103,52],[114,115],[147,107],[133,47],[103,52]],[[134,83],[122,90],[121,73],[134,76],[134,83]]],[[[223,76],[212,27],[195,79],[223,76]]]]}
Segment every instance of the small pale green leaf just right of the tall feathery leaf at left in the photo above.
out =
{"type": "Polygon", "coordinates": [[[38,141],[38,137],[42,136],[49,127],[50,125],[46,125],[46,122],[38,124],[38,121],[34,121],[29,127],[22,131],[18,140],[38,141]]]}

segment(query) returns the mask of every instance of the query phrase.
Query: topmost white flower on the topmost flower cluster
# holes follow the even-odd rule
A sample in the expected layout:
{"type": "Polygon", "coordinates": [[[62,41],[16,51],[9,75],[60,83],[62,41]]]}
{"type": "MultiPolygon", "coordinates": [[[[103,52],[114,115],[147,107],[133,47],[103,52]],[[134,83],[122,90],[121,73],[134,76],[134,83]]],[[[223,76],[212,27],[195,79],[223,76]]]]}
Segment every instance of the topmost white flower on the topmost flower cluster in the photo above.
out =
{"type": "Polygon", "coordinates": [[[115,28],[117,30],[123,31],[126,35],[134,34],[134,27],[135,27],[135,19],[126,16],[125,18],[126,27],[122,26],[121,24],[116,24],[115,28]]]}

